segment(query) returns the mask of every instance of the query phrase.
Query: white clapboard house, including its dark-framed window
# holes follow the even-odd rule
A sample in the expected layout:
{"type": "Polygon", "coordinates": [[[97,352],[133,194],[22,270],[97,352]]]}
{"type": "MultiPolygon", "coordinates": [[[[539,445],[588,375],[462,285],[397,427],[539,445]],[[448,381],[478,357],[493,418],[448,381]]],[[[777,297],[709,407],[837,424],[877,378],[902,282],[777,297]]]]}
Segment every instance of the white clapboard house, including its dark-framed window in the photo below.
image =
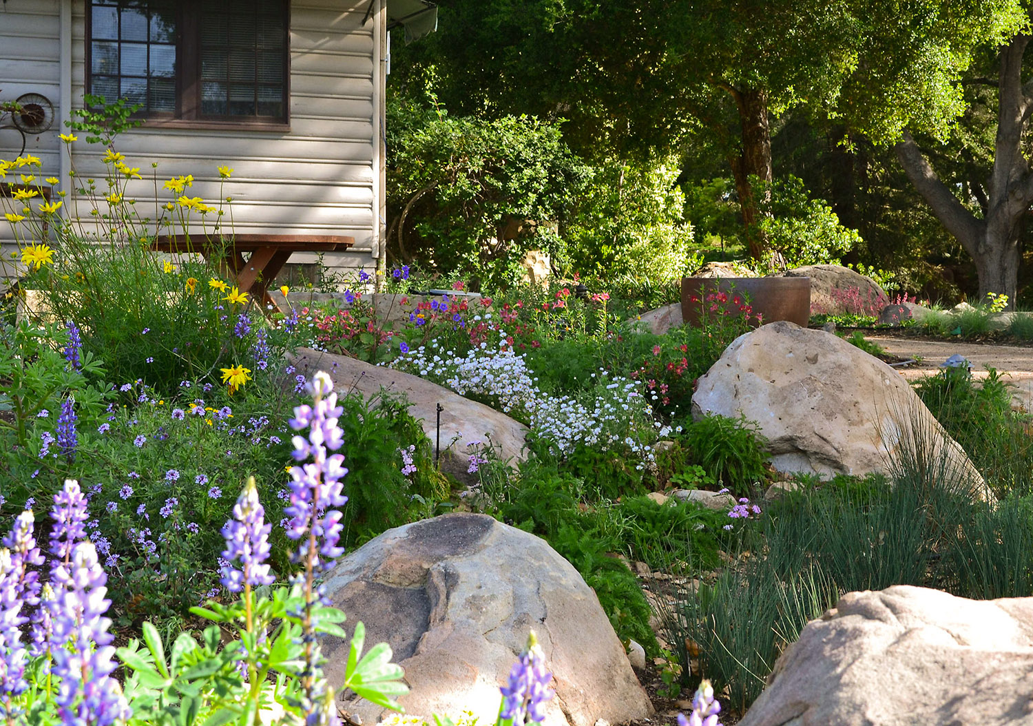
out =
{"type": "MultiPolygon", "coordinates": [[[[0,0],[0,103],[34,114],[0,115],[0,158],[24,144],[40,178],[100,178],[103,147],[80,132],[69,155],[59,134],[84,94],[125,97],[144,119],[116,140],[145,176],[133,198],[153,203],[156,163],[162,200],[181,175],[218,199],[229,166],[234,233],[353,238],[323,262],[369,269],[382,253],[387,30],[410,39],[436,22],[427,0],[0,0]]],[[[5,254],[12,244],[0,217],[5,254]]]]}

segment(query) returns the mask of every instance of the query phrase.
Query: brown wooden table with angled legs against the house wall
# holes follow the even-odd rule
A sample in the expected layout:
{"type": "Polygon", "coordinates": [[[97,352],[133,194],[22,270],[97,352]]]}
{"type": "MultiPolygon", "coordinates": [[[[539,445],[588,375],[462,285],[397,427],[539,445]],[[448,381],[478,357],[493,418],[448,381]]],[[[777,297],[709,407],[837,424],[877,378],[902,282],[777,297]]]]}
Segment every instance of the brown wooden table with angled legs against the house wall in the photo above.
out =
{"type": "Polygon", "coordinates": [[[200,234],[162,234],[151,243],[156,252],[195,252],[215,262],[231,284],[265,305],[286,314],[269,294],[269,286],[294,252],[342,252],[355,239],[340,234],[233,234],[210,238],[200,234]],[[244,253],[250,252],[247,260],[244,253]]]}

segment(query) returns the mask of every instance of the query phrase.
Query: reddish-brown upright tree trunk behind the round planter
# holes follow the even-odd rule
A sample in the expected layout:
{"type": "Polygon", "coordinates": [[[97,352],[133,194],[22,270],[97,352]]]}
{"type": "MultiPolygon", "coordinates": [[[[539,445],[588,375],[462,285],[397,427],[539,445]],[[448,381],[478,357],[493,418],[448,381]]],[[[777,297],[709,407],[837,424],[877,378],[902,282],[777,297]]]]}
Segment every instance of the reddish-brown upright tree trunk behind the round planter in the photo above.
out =
{"type": "MultiPolygon", "coordinates": [[[[768,123],[768,96],[760,89],[740,90],[728,87],[726,90],[735,100],[742,126],[740,154],[729,159],[731,176],[735,180],[735,191],[739,194],[739,207],[743,213],[750,256],[760,259],[768,245],[753,226],[757,222],[759,212],[758,199],[753,192],[750,177],[757,177],[768,183],[772,181],[772,135],[768,123]]],[[[770,192],[764,194],[766,197],[770,192]]]]}

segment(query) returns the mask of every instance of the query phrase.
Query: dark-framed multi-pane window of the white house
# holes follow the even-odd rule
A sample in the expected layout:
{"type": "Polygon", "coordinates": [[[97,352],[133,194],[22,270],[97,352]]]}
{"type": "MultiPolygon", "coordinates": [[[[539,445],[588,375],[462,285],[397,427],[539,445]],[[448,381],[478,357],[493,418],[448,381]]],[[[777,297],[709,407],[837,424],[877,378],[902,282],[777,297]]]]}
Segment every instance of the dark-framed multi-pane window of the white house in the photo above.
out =
{"type": "Polygon", "coordinates": [[[287,121],[288,0],[92,0],[87,92],[149,119],[287,121]]]}

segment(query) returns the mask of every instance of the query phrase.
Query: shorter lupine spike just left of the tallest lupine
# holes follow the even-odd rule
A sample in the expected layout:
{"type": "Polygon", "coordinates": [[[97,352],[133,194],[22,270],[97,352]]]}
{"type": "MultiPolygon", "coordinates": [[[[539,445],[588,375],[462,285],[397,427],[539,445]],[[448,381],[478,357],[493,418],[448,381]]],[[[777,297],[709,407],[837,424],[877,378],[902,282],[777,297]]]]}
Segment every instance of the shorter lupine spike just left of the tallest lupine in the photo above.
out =
{"type": "Polygon", "coordinates": [[[258,488],[254,477],[248,478],[248,483],[237,498],[233,505],[233,518],[222,528],[222,536],[226,540],[226,548],[222,557],[227,561],[222,567],[222,585],[231,593],[241,592],[245,586],[272,585],[276,577],[272,575],[269,565],[269,533],[273,526],[267,525],[265,510],[258,501],[258,488]],[[239,560],[238,570],[232,562],[239,560]]]}

